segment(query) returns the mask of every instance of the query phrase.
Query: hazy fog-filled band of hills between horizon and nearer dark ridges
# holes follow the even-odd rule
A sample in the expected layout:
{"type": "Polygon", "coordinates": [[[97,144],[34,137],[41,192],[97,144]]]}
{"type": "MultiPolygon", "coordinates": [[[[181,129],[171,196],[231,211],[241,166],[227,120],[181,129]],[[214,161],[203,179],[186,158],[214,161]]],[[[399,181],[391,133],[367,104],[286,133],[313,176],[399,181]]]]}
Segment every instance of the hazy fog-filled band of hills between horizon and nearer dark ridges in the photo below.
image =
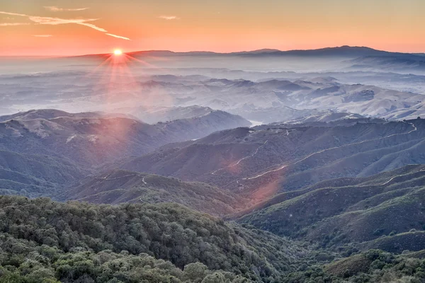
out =
{"type": "Polygon", "coordinates": [[[254,124],[335,113],[400,120],[422,115],[425,94],[424,56],[365,47],[1,60],[1,115],[54,108],[154,123],[223,110],[254,124]]]}

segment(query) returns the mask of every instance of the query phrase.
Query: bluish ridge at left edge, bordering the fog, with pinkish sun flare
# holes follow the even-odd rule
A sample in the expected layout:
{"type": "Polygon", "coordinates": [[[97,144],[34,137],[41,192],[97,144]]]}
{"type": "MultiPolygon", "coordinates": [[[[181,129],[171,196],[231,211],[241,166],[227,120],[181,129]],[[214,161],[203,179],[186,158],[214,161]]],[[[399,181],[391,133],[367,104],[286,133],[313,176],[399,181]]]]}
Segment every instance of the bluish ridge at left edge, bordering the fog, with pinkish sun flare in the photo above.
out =
{"type": "Polygon", "coordinates": [[[20,112],[0,121],[0,190],[31,197],[52,196],[106,162],[250,125],[222,111],[157,125],[125,115],[49,109],[20,112]]]}

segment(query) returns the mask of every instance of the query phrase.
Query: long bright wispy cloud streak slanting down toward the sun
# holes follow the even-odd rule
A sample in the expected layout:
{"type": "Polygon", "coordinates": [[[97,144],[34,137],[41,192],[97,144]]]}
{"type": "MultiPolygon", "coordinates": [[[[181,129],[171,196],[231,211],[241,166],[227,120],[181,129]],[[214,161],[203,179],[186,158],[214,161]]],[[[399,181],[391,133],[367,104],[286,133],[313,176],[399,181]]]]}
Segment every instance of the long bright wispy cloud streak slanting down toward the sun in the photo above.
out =
{"type": "Polygon", "coordinates": [[[120,36],[120,35],[113,35],[111,33],[107,33],[108,30],[106,30],[104,28],[100,28],[97,25],[94,25],[92,23],[88,23],[88,22],[92,22],[92,21],[97,21],[98,18],[71,18],[71,19],[65,19],[65,18],[52,18],[52,17],[30,16],[30,15],[26,15],[24,13],[9,13],[9,12],[4,12],[4,11],[0,11],[0,14],[10,15],[10,16],[26,17],[26,18],[29,18],[30,21],[33,21],[34,23],[38,23],[39,25],[64,25],[64,24],[69,24],[69,23],[75,23],[77,25],[84,25],[86,27],[93,28],[94,30],[101,31],[102,33],[106,33],[106,35],[110,35],[110,36],[113,36],[113,37],[121,38],[123,40],[130,40],[130,38],[128,38],[128,37],[123,37],[123,36],[120,36]]]}

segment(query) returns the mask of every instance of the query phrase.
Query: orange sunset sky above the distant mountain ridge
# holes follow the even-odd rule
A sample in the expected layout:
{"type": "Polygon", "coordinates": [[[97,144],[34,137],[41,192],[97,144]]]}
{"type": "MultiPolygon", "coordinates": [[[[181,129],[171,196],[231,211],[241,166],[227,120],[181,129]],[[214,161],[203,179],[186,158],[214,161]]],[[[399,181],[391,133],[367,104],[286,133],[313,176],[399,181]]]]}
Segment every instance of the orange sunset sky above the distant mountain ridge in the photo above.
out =
{"type": "Polygon", "coordinates": [[[0,0],[0,56],[368,46],[425,52],[424,0],[0,0]]]}

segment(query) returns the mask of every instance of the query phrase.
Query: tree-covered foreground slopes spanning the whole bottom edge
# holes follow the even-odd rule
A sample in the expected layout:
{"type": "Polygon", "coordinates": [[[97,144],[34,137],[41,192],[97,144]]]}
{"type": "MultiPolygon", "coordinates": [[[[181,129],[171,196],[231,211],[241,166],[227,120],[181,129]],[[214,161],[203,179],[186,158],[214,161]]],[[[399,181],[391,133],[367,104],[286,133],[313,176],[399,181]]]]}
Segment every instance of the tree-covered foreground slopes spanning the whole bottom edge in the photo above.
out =
{"type": "Polygon", "coordinates": [[[330,250],[179,204],[0,197],[0,283],[421,283],[424,251],[330,250]],[[330,262],[332,261],[332,262],[330,262]],[[330,263],[329,263],[330,262],[330,263]]]}

